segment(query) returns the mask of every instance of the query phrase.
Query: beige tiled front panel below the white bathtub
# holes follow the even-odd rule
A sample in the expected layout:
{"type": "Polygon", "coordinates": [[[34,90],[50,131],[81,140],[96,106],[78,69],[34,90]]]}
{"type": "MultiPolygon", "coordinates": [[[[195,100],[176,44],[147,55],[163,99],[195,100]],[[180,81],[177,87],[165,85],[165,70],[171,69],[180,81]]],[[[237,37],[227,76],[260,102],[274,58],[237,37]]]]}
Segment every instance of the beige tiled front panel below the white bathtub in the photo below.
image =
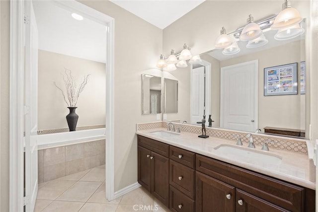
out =
{"type": "Polygon", "coordinates": [[[38,150],[39,183],[105,164],[105,140],[38,150]]]}

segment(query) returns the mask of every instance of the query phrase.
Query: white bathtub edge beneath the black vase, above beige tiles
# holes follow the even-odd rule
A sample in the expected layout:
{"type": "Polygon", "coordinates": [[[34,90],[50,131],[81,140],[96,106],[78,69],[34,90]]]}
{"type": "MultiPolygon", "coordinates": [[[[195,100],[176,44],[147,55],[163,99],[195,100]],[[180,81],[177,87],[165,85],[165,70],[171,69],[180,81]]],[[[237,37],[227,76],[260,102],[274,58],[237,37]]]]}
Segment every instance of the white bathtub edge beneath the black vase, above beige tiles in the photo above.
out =
{"type": "Polygon", "coordinates": [[[37,135],[38,150],[106,139],[106,128],[37,135]]]}

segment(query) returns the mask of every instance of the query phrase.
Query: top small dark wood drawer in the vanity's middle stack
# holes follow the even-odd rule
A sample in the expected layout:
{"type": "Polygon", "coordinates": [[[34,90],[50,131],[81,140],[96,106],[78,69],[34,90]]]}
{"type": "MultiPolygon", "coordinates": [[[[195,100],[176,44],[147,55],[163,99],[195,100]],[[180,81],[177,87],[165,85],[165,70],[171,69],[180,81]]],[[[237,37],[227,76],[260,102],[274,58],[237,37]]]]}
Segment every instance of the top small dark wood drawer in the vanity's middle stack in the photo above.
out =
{"type": "Polygon", "coordinates": [[[194,169],[195,153],[175,146],[170,146],[170,159],[194,169]]]}

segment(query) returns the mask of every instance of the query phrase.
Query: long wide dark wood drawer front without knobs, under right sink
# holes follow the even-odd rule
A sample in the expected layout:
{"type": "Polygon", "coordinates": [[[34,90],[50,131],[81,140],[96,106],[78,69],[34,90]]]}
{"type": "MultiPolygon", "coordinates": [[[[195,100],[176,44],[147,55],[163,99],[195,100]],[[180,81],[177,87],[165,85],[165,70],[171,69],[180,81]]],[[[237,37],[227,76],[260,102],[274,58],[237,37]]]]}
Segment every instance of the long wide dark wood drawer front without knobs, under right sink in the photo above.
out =
{"type": "Polygon", "coordinates": [[[304,211],[305,189],[196,154],[196,170],[293,212],[304,211]]]}

